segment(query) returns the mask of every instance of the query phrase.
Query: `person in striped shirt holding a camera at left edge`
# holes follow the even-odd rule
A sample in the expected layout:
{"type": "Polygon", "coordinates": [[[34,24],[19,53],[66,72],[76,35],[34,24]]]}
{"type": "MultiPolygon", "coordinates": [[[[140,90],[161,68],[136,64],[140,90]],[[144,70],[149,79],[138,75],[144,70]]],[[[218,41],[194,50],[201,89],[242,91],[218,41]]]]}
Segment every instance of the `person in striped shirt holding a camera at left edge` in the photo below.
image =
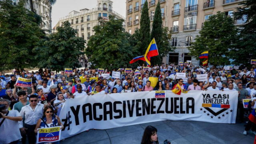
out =
{"type": "Polygon", "coordinates": [[[22,117],[17,110],[8,110],[10,103],[0,99],[0,144],[18,144],[22,138],[18,123],[22,117]]]}

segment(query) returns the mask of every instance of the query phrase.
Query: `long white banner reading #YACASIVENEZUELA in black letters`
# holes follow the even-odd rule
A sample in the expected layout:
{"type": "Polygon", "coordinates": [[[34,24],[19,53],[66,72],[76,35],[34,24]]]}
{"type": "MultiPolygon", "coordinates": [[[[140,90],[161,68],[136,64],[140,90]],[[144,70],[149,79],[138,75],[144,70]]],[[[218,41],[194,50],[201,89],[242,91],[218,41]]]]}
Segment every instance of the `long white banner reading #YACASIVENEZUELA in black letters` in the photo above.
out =
{"type": "Polygon", "coordinates": [[[89,129],[108,129],[160,120],[235,123],[237,91],[126,92],[76,96],[64,103],[61,138],[89,129]]]}

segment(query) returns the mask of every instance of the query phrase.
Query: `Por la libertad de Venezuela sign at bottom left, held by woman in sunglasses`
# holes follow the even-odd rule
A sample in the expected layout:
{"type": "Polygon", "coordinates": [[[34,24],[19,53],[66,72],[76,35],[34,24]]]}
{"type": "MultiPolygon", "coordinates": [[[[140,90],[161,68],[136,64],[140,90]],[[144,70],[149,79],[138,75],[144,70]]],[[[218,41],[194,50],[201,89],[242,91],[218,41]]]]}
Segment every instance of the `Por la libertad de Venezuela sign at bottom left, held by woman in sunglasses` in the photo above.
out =
{"type": "Polygon", "coordinates": [[[47,142],[47,143],[52,143],[52,142],[57,142],[60,141],[61,137],[61,126],[54,126],[50,128],[39,128],[39,131],[37,132],[36,136],[36,143],[41,143],[41,142],[47,142]]]}

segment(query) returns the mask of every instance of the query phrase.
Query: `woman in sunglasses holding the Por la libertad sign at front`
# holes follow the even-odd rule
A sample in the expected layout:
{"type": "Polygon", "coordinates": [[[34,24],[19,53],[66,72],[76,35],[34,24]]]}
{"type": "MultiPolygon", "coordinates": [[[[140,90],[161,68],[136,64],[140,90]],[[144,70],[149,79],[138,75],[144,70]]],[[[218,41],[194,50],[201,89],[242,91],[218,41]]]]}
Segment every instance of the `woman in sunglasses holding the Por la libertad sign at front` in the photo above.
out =
{"type": "MultiPolygon", "coordinates": [[[[45,106],[44,116],[37,121],[34,132],[37,133],[39,131],[38,128],[50,128],[54,126],[61,126],[60,129],[63,128],[63,125],[60,122],[60,118],[53,113],[52,106],[45,106]]],[[[60,141],[52,142],[51,144],[59,144],[59,143],[60,141]]]]}

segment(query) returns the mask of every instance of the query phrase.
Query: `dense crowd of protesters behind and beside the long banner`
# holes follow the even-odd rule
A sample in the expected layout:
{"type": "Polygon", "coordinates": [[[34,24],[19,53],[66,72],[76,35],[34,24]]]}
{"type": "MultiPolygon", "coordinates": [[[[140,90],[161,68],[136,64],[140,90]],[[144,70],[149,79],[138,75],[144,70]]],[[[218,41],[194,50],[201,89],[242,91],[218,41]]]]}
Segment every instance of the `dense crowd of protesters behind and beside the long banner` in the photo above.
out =
{"type": "MultiPolygon", "coordinates": [[[[56,74],[47,68],[36,72],[15,70],[11,75],[0,72],[0,108],[5,106],[0,112],[2,117],[0,118],[0,135],[1,137],[6,136],[6,139],[0,138],[0,143],[17,144],[21,139],[22,144],[25,144],[27,138],[29,144],[34,144],[37,128],[62,126],[58,116],[63,104],[68,98],[79,95],[172,90],[178,88],[178,84],[186,91],[238,91],[236,122],[248,121],[244,118],[244,114],[249,114],[250,108],[256,108],[254,105],[256,101],[256,67],[254,65],[250,68],[242,65],[238,69],[230,68],[229,70],[225,70],[223,67],[212,66],[210,68],[192,64],[152,66],[147,70],[144,69],[144,66],[138,66],[130,73],[120,69],[120,78],[113,78],[112,71],[118,70],[99,72],[97,69],[75,68],[72,74],[65,74],[64,71],[56,74]],[[139,70],[140,74],[135,75],[136,70],[139,70]],[[186,78],[176,78],[177,72],[186,73],[186,78]],[[110,78],[106,79],[102,74],[110,74],[110,78]],[[198,74],[208,74],[208,80],[198,81],[198,74]],[[31,88],[16,86],[18,77],[32,78],[31,88]],[[151,86],[150,77],[158,78],[154,88],[151,86]],[[248,98],[252,101],[250,108],[245,110],[242,99],[248,98]],[[19,129],[15,129],[15,131],[14,128],[19,129]]],[[[244,134],[247,134],[250,128],[253,132],[256,130],[255,125],[249,121],[244,134]]]]}

